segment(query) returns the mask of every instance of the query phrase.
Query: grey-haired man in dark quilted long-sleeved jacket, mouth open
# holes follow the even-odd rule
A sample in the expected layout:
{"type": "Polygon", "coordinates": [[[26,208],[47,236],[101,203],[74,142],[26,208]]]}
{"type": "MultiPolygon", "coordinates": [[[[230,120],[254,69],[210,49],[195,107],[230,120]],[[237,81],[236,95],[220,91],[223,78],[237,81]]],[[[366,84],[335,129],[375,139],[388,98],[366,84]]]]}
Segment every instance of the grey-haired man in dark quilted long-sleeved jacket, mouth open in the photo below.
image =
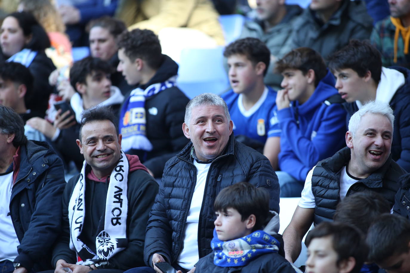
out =
{"type": "MultiPolygon", "coordinates": [[[[169,262],[187,272],[212,252],[212,204],[225,187],[247,181],[269,191],[269,209],[279,212],[279,184],[269,160],[232,135],[233,123],[221,97],[192,99],[182,129],[191,143],[165,166],[147,224],[144,259],[169,262]]],[[[154,267],[148,272],[161,272],[154,267]]],[[[134,268],[134,272],[147,272],[134,268]]]]}

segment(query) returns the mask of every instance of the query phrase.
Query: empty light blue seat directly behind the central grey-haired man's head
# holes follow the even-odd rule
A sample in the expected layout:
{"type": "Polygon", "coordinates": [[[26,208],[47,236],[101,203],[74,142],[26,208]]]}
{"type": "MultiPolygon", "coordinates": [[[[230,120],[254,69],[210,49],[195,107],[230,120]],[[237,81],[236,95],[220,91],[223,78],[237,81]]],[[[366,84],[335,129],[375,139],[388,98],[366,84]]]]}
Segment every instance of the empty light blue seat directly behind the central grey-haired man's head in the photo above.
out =
{"type": "Polygon", "coordinates": [[[182,50],[177,84],[189,99],[202,93],[219,95],[229,88],[222,52],[223,47],[182,50]]]}

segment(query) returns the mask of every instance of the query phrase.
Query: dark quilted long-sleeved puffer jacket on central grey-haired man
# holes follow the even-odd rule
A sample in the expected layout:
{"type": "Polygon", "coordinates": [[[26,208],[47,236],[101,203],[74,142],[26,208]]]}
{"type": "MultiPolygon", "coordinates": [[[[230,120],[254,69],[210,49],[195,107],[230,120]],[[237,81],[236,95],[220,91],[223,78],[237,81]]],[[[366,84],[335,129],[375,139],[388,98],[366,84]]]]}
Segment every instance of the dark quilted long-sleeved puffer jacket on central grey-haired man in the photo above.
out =
{"type": "MultiPolygon", "coordinates": [[[[154,253],[162,254],[173,264],[182,251],[185,223],[196,184],[196,167],[190,156],[191,149],[190,142],[165,165],[162,184],[147,225],[144,260],[150,266],[154,253]]],[[[278,177],[269,160],[237,142],[232,134],[225,151],[211,163],[208,171],[198,223],[199,257],[212,252],[216,195],[223,188],[243,181],[268,190],[269,209],[279,212],[278,177]]]]}

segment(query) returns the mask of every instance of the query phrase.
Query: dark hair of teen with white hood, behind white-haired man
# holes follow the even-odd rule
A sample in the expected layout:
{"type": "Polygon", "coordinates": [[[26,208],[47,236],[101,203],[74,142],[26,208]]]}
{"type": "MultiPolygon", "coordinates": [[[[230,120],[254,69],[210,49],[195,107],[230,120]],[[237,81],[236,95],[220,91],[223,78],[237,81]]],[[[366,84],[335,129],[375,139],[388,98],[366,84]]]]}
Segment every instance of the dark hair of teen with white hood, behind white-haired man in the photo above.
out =
{"type": "Polygon", "coordinates": [[[358,73],[359,77],[364,77],[367,71],[370,71],[371,78],[376,83],[380,81],[382,57],[377,48],[368,41],[350,40],[348,45],[329,56],[328,63],[332,73],[350,68],[358,73]]]}

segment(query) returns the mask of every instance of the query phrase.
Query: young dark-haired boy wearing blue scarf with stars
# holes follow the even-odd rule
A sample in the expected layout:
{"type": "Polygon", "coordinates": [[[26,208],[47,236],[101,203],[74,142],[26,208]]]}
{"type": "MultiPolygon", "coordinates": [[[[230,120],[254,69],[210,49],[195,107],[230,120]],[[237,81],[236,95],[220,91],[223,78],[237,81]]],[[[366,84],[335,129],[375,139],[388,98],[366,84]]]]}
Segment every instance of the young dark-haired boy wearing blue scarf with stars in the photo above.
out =
{"type": "Polygon", "coordinates": [[[266,190],[246,182],[226,187],[214,210],[214,251],[199,259],[195,273],[295,272],[279,255],[280,242],[262,230],[269,216],[266,190]]]}

